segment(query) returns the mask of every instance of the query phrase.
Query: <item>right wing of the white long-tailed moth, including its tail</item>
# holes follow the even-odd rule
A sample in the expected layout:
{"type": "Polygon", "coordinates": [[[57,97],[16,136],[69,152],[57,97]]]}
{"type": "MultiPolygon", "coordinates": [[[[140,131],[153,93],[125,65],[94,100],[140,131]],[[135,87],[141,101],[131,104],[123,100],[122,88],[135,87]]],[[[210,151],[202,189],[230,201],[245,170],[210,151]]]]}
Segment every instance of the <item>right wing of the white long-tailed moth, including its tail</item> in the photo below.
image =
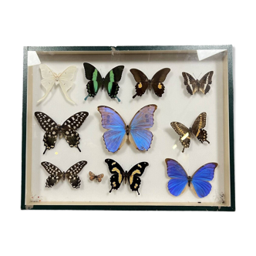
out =
{"type": "Polygon", "coordinates": [[[75,104],[72,99],[69,98],[67,91],[72,87],[72,79],[76,72],[76,66],[69,66],[67,69],[65,69],[60,75],[59,75],[59,86],[62,89],[62,92],[64,93],[64,96],[66,99],[70,102],[75,104]]]}

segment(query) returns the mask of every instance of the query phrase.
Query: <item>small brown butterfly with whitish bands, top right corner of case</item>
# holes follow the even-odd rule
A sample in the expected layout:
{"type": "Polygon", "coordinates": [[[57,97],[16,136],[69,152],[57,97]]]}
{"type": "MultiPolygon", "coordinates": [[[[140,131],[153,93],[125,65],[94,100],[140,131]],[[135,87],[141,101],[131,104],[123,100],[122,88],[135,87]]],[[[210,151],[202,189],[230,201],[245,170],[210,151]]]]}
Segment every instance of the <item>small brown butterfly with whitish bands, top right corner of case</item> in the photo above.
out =
{"type": "Polygon", "coordinates": [[[191,95],[197,91],[204,94],[208,93],[211,89],[210,85],[212,83],[211,79],[213,75],[213,71],[207,72],[199,81],[198,79],[194,79],[189,73],[182,72],[182,76],[184,77],[184,85],[187,86],[187,92],[191,95]]]}

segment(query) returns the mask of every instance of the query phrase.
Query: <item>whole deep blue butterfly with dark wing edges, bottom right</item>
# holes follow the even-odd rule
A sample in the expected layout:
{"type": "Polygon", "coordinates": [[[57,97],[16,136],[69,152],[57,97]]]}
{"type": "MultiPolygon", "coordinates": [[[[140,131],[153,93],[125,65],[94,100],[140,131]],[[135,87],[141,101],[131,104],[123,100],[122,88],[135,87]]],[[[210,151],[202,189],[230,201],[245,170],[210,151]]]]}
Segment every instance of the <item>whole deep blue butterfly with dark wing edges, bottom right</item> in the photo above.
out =
{"type": "Polygon", "coordinates": [[[170,194],[177,197],[188,187],[191,187],[198,197],[206,197],[211,192],[210,180],[214,178],[214,170],[217,163],[206,163],[200,167],[192,177],[187,175],[184,167],[176,160],[167,158],[167,174],[171,178],[168,182],[168,190],[170,194]]]}

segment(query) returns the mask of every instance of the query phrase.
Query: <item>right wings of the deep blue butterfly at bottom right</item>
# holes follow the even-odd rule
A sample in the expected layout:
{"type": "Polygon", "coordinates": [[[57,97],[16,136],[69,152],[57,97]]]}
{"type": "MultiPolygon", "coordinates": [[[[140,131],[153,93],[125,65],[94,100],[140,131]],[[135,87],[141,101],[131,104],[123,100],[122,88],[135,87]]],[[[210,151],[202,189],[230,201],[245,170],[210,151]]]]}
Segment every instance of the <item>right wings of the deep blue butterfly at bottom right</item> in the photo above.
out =
{"type": "Polygon", "coordinates": [[[217,163],[206,163],[192,176],[191,184],[198,197],[206,197],[211,192],[211,184],[208,182],[214,178],[214,170],[217,163]]]}

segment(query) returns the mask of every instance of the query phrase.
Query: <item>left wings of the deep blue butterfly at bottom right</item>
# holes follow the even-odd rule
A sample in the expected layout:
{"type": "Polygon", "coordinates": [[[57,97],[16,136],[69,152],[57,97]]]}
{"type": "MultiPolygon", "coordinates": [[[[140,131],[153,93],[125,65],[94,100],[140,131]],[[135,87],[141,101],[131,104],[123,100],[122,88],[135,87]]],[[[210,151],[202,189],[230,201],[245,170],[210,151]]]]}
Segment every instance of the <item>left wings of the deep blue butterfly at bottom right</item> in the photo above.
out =
{"type": "Polygon", "coordinates": [[[187,173],[176,160],[167,158],[167,174],[171,178],[168,182],[170,194],[177,197],[182,194],[187,185],[187,173]]]}

